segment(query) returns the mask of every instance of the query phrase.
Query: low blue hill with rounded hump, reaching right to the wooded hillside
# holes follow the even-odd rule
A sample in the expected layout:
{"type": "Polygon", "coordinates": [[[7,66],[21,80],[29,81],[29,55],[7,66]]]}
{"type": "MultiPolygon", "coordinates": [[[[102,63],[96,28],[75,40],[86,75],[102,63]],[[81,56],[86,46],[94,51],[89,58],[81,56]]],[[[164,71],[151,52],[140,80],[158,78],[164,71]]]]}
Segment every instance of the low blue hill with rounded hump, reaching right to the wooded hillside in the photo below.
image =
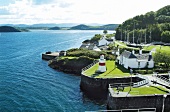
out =
{"type": "Polygon", "coordinates": [[[115,30],[118,27],[118,24],[108,24],[103,26],[87,26],[80,24],[74,27],[71,27],[70,30],[115,30]]]}

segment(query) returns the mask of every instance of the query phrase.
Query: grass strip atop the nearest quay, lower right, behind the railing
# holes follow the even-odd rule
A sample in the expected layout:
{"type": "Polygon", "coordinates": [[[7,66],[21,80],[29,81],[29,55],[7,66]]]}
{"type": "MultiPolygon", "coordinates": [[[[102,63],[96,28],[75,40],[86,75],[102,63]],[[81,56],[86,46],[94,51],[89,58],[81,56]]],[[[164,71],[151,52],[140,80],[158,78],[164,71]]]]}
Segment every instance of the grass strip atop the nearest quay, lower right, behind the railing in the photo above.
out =
{"type": "MultiPolygon", "coordinates": [[[[116,88],[113,89],[117,91],[116,88]]],[[[129,92],[130,87],[124,88],[123,92],[129,92]]],[[[132,88],[130,95],[153,95],[153,94],[166,94],[169,93],[167,89],[162,86],[143,86],[139,88],[132,88]]]]}

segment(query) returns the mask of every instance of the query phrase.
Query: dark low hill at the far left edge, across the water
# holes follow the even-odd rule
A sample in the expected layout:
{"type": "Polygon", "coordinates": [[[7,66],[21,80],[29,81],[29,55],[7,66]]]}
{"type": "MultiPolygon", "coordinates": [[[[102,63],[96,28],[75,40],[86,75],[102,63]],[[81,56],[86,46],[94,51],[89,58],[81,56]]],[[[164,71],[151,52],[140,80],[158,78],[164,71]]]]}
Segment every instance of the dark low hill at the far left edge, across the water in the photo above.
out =
{"type": "Polygon", "coordinates": [[[21,32],[21,30],[11,26],[0,26],[0,32],[21,32]]]}

